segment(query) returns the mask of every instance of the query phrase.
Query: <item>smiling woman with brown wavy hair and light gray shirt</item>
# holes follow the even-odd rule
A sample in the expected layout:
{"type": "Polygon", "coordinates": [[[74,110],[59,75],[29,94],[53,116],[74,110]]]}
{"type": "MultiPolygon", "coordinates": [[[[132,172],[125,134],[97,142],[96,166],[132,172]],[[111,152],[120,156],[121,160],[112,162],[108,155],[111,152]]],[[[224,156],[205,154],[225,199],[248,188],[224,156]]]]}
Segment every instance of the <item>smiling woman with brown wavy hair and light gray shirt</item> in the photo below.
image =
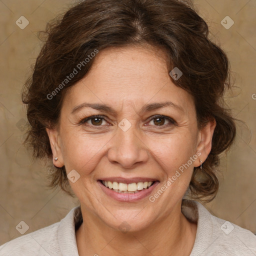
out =
{"type": "Polygon", "coordinates": [[[26,141],[80,206],[0,255],[256,255],[253,233],[183,199],[214,198],[235,136],[228,60],[192,4],[84,0],[47,32],[26,141]]]}

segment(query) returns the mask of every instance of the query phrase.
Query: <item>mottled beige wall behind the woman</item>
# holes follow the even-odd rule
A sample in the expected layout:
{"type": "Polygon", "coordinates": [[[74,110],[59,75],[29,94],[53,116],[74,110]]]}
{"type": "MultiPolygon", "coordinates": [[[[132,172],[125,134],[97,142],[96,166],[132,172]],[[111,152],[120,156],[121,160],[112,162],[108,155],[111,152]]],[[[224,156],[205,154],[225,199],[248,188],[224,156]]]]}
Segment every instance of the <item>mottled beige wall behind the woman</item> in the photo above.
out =
{"type": "MultiPolygon", "coordinates": [[[[22,146],[25,111],[20,89],[40,49],[37,31],[65,10],[70,0],[0,0],[0,244],[21,235],[15,226],[25,221],[26,233],[59,221],[75,198],[46,187],[47,169],[32,161],[22,146]],[[20,29],[15,21],[25,16],[20,29]]],[[[206,207],[218,217],[256,232],[256,0],[195,0],[210,26],[211,37],[227,52],[236,78],[226,95],[238,124],[236,143],[221,157],[220,189],[206,207]],[[234,21],[225,29],[225,16],[234,21]],[[254,99],[253,99],[254,95],[254,99]]]]}

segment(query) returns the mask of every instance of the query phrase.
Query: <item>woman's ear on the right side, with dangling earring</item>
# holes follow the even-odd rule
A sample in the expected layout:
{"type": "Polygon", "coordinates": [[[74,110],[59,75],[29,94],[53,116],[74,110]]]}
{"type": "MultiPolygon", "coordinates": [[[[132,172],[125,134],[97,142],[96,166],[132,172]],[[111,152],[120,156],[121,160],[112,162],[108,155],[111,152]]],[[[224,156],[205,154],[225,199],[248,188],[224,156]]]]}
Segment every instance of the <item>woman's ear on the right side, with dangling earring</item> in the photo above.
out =
{"type": "Polygon", "coordinates": [[[198,154],[198,158],[196,159],[196,161],[194,161],[195,167],[200,166],[201,163],[206,160],[208,154],[210,153],[211,141],[215,127],[216,121],[213,118],[200,129],[198,134],[199,141],[197,142],[197,152],[200,152],[200,154],[198,154]]]}

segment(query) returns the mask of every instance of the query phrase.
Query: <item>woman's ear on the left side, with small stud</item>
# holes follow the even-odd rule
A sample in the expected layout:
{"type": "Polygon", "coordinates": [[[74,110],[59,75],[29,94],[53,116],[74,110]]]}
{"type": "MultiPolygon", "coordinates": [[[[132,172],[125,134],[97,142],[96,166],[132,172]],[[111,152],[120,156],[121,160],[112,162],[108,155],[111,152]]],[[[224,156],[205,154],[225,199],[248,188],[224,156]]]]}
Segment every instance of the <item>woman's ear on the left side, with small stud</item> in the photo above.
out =
{"type": "Polygon", "coordinates": [[[52,129],[46,128],[46,132],[48,134],[49,141],[50,141],[53,165],[60,168],[64,165],[64,163],[63,163],[63,156],[62,156],[61,146],[60,146],[59,132],[55,128],[52,128],[52,129]],[[54,160],[55,157],[57,157],[57,160],[54,160]]]}

